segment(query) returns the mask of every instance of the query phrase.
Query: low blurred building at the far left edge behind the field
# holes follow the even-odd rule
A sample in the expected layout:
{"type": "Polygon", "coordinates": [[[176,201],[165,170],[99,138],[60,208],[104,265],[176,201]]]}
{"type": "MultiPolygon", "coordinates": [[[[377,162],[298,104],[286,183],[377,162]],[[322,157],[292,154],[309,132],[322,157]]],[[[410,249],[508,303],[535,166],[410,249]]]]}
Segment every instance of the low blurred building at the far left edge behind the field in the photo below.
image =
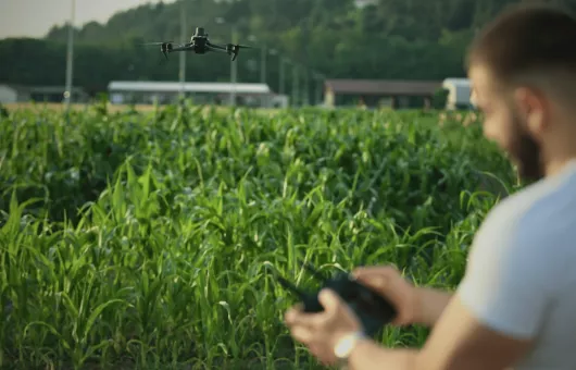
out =
{"type": "MultiPolygon", "coordinates": [[[[65,88],[63,86],[24,86],[24,85],[0,85],[0,102],[62,102],[65,88]]],[[[88,95],[84,89],[75,87],[72,89],[73,101],[87,101],[88,95]]]]}

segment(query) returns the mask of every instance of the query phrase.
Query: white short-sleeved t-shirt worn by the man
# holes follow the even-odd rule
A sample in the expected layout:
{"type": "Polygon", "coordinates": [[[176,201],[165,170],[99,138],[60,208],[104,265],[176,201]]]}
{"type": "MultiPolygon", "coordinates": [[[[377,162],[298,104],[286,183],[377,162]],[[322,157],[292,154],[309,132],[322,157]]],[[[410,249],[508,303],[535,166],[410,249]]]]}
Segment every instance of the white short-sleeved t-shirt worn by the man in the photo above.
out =
{"type": "Polygon", "coordinates": [[[490,329],[536,338],[515,370],[576,369],[576,160],[494,206],[458,292],[490,329]]]}

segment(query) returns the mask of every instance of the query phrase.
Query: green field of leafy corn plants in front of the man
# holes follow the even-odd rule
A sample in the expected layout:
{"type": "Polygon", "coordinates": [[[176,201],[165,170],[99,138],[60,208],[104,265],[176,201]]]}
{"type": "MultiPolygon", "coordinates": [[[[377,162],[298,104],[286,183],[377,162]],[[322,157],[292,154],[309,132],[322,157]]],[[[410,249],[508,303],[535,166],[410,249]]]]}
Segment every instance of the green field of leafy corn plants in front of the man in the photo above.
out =
{"type": "MultiPolygon", "coordinates": [[[[395,263],[454,287],[514,169],[420,111],[166,107],[0,118],[0,367],[320,369],[275,280],[395,263]]],[[[377,341],[420,346],[424,328],[377,341]]]]}

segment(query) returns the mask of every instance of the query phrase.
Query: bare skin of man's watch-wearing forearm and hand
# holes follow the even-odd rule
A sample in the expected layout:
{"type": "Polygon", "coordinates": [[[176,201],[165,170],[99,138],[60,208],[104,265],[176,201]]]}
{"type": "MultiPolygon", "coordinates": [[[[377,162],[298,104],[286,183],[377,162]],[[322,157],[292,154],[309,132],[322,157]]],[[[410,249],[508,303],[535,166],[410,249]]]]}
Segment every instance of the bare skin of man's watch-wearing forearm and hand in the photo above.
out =
{"type": "MultiPolygon", "coordinates": [[[[362,328],[336,293],[324,289],[318,299],[323,312],[305,313],[292,308],[286,313],[286,323],[296,341],[306,345],[324,365],[334,365],[334,348],[339,340],[362,328]]],[[[486,326],[455,296],[421,350],[387,349],[364,340],[352,350],[349,361],[355,370],[501,370],[514,366],[531,345],[528,338],[512,337],[486,326]]]]}

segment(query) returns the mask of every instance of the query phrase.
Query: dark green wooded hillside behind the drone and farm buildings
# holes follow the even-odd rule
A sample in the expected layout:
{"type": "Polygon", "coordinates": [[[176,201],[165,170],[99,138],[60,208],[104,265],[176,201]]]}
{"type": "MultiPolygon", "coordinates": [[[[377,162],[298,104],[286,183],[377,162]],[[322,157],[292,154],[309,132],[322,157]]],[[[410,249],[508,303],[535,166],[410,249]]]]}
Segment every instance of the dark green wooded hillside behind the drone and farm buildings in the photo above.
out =
{"type": "MultiPolygon", "coordinates": [[[[188,41],[204,26],[211,39],[266,45],[292,63],[299,76],[316,71],[326,78],[431,79],[464,76],[463,55],[475,32],[514,0],[375,0],[358,8],[354,0],[179,0],[120,12],[107,24],[75,28],[74,85],[89,92],[113,79],[177,81],[178,57],[170,60],[149,41],[188,41]],[[184,4],[181,3],[184,1],[184,4]],[[187,38],[180,39],[185,7],[187,38]],[[252,36],[252,38],[250,38],[252,36]]],[[[553,0],[576,10],[576,0],[553,0]]],[[[0,40],[0,81],[23,85],[63,85],[67,26],[54,26],[41,39],[0,40]]],[[[238,81],[259,82],[259,49],[243,49],[238,81]]],[[[266,57],[266,79],[278,89],[278,55],[266,57]]],[[[187,54],[186,78],[229,81],[225,54],[187,54]]],[[[286,70],[288,91],[290,65],[286,70]]],[[[309,76],[313,82],[313,76],[309,76]]],[[[300,85],[302,86],[302,85],[300,85]]],[[[312,96],[311,84],[310,95],[312,96]]]]}

